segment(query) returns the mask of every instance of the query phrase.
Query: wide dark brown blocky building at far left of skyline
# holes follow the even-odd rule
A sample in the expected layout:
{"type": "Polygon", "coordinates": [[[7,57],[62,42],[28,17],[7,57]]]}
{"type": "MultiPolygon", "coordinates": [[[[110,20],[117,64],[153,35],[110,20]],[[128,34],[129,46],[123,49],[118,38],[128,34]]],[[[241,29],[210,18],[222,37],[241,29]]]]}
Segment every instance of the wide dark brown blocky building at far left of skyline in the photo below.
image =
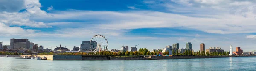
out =
{"type": "Polygon", "coordinates": [[[10,49],[19,49],[19,48],[29,49],[29,47],[30,47],[29,39],[11,39],[10,41],[10,49]]]}

